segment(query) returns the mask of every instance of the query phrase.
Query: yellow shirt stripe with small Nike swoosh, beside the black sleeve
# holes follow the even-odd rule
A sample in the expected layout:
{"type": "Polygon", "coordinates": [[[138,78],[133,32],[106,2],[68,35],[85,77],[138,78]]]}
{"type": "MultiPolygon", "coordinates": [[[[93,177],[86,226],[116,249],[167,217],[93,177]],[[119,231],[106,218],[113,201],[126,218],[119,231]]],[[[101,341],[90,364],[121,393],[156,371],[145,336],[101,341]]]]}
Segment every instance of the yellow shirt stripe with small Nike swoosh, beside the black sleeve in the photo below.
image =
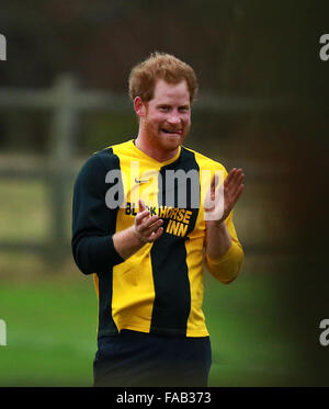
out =
{"type": "MultiPolygon", "coordinates": [[[[138,211],[138,195],[132,193],[136,185],[140,190],[141,197],[149,184],[136,184],[135,178],[144,178],[144,173],[150,169],[150,163],[143,158],[132,155],[132,144],[122,144],[113,147],[113,152],[118,156],[121,170],[126,174],[123,181],[126,202],[134,203],[138,211]],[[132,170],[131,161],[138,161],[138,169],[135,166],[132,170]]],[[[151,166],[154,168],[154,163],[151,166]]],[[[157,185],[156,197],[157,197],[157,185]]],[[[146,201],[146,205],[151,205],[146,201]]],[[[134,225],[135,216],[126,214],[125,208],[120,208],[116,219],[116,232],[134,225]]],[[[125,262],[113,268],[113,293],[112,293],[112,316],[118,330],[122,328],[149,332],[155,288],[152,269],[150,261],[151,243],[145,245],[139,251],[125,262]]]]}

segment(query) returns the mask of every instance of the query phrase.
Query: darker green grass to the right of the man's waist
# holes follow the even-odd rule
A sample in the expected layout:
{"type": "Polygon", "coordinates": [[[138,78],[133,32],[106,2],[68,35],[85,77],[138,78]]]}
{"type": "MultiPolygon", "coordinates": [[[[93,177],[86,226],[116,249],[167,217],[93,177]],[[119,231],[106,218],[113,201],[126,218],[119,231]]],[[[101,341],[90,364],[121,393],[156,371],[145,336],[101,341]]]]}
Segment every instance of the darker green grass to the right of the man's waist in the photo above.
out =
{"type": "Polygon", "coordinates": [[[227,286],[214,279],[206,284],[209,386],[298,384],[298,351],[280,306],[276,276],[241,274],[227,286]]]}

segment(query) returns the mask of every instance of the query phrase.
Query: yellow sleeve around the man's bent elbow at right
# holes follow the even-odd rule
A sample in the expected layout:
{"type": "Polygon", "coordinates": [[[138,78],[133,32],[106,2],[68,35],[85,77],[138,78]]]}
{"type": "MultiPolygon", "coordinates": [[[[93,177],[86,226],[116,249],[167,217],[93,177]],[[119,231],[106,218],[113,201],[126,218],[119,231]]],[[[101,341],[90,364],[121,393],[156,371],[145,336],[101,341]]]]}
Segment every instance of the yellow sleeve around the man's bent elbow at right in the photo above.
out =
{"type": "Polygon", "coordinates": [[[231,246],[227,252],[217,260],[212,260],[206,254],[205,264],[216,280],[224,284],[229,284],[238,276],[243,263],[245,254],[232,223],[232,212],[229,214],[225,223],[231,238],[231,246]]]}

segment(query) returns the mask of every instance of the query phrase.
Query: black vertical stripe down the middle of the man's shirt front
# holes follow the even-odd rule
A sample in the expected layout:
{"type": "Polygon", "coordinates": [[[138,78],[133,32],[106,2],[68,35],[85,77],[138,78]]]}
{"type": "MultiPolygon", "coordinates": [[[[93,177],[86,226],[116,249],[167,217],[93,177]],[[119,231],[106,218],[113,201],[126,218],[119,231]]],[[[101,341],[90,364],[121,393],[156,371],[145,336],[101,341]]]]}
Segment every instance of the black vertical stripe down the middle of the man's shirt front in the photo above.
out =
{"type": "MultiPolygon", "coordinates": [[[[200,170],[194,154],[182,148],[179,159],[161,168],[162,192],[159,192],[159,205],[166,203],[166,170],[200,170]]],[[[178,189],[175,188],[175,195],[178,189]]],[[[175,197],[177,198],[177,197],[175,197]]],[[[192,212],[188,235],[194,229],[198,208],[191,208],[191,192],[188,192],[186,209],[192,212]]],[[[155,284],[155,302],[151,317],[152,333],[186,334],[188,319],[191,310],[191,289],[186,264],[185,240],[166,232],[168,220],[164,220],[164,232],[150,251],[155,284]]]]}

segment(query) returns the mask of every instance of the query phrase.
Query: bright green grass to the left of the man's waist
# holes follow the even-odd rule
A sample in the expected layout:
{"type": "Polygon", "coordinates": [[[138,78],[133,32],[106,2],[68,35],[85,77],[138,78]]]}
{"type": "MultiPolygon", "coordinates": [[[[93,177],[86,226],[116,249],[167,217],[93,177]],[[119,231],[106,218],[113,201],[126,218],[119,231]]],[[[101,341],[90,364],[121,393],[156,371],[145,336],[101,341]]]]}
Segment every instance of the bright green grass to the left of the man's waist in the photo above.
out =
{"type": "Polygon", "coordinates": [[[5,283],[0,289],[7,346],[1,386],[91,385],[97,302],[92,281],[5,283]]]}

